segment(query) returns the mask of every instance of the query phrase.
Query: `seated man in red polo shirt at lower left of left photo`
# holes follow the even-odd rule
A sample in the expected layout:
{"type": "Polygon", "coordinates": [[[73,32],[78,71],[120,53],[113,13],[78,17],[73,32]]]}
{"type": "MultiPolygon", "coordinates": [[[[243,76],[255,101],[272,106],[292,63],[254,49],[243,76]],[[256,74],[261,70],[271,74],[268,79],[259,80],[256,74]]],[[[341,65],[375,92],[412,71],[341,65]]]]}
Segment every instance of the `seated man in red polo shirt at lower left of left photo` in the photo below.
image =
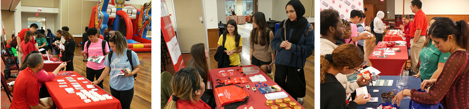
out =
{"type": "Polygon", "coordinates": [[[42,55],[34,53],[28,58],[28,67],[21,71],[15,80],[15,90],[13,90],[13,100],[11,109],[51,109],[53,100],[51,97],[39,99],[39,86],[36,73],[40,72],[44,66],[42,55]]]}

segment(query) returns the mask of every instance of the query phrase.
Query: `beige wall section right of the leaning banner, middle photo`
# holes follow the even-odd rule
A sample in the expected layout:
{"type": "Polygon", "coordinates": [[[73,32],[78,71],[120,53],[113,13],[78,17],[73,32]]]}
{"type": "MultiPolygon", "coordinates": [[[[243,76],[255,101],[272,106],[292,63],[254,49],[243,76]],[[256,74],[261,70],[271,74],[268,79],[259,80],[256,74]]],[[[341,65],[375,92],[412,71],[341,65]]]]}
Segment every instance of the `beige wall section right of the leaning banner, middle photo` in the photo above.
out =
{"type": "Polygon", "coordinates": [[[206,44],[204,24],[199,21],[199,17],[204,17],[202,0],[174,0],[175,17],[179,44],[182,53],[190,52],[190,47],[194,44],[206,44]]]}

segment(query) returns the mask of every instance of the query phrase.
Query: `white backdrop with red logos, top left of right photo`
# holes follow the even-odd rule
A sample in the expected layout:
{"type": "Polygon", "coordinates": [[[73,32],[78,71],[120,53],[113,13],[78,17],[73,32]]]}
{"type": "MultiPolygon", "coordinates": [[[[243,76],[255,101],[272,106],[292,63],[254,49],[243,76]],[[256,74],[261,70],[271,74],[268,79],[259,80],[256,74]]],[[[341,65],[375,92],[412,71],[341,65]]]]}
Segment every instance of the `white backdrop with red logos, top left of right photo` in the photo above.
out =
{"type": "Polygon", "coordinates": [[[348,20],[353,9],[363,10],[363,0],[321,0],[320,11],[332,8],[339,11],[341,19],[348,20]]]}

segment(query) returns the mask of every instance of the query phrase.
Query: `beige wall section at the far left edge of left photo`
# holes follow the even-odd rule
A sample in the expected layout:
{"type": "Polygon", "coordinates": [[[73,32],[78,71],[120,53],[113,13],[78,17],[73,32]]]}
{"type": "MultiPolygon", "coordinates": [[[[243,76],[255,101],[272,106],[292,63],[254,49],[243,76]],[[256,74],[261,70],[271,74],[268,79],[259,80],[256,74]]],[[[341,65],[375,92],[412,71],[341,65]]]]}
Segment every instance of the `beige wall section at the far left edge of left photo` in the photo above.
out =
{"type": "MultiPolygon", "coordinates": [[[[11,34],[15,34],[13,32],[15,31],[15,12],[8,12],[8,11],[2,10],[1,20],[3,21],[3,26],[5,26],[5,34],[7,35],[7,40],[8,40],[9,38],[11,38],[11,34]]],[[[1,35],[3,37],[3,32],[1,32],[1,35]]],[[[4,38],[2,38],[2,40],[3,39],[4,38]]]]}

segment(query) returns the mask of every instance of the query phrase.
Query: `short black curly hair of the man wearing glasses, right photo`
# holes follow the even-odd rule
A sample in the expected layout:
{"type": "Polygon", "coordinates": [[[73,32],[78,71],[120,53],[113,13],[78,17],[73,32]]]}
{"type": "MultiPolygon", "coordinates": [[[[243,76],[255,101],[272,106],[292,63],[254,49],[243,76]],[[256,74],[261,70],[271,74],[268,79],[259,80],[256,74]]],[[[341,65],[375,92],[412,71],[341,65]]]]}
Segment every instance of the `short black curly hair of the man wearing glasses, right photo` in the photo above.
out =
{"type": "Polygon", "coordinates": [[[334,9],[324,9],[321,11],[321,22],[320,22],[320,34],[321,35],[326,35],[327,31],[329,30],[329,27],[334,27],[337,22],[340,22],[339,19],[339,12],[334,9]]]}

